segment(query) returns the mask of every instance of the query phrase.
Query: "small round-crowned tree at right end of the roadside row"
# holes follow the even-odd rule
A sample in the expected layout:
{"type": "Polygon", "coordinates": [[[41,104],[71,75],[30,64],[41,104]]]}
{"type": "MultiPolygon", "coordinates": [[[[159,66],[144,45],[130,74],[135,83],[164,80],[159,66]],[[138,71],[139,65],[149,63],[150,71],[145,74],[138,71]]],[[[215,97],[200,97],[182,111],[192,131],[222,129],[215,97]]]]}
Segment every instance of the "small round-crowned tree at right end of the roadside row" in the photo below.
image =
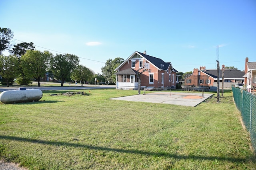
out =
{"type": "Polygon", "coordinates": [[[94,76],[94,72],[84,66],[84,65],[78,65],[72,72],[71,72],[71,79],[72,80],[80,80],[82,82],[82,86],[84,81],[88,81],[94,76]]]}

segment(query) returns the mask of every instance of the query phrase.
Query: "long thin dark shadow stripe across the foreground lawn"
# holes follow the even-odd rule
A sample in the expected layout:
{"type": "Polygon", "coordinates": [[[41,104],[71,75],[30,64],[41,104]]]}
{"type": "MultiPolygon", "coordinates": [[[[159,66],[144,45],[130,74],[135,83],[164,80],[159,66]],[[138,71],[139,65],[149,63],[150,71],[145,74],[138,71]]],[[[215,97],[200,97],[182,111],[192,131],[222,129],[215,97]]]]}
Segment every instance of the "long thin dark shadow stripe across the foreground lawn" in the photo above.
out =
{"type": "Polygon", "coordinates": [[[78,143],[44,141],[44,140],[28,139],[28,138],[22,138],[22,137],[14,137],[14,136],[3,136],[3,135],[0,135],[0,139],[30,142],[30,143],[39,143],[39,144],[43,144],[43,145],[82,147],[82,148],[94,149],[94,150],[105,150],[105,151],[140,154],[140,155],[150,155],[150,156],[162,156],[162,157],[176,158],[176,159],[198,159],[198,160],[213,160],[213,161],[214,160],[222,160],[222,161],[229,161],[229,162],[245,162],[246,161],[246,159],[233,158],[233,157],[218,157],[218,156],[208,156],[207,157],[207,156],[193,156],[193,155],[186,156],[186,155],[178,155],[178,154],[169,154],[166,152],[148,152],[148,151],[134,150],[134,149],[106,148],[106,147],[97,147],[97,146],[91,146],[91,145],[83,145],[83,144],[78,144],[78,143]]]}

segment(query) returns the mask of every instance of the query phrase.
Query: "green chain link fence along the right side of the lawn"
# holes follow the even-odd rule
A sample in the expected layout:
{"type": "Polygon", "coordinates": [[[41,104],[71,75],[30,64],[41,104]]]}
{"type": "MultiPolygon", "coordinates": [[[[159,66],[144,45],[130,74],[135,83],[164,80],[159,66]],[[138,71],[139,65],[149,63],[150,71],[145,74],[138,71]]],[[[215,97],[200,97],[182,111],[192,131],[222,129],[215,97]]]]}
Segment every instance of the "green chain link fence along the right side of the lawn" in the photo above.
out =
{"type": "Polygon", "coordinates": [[[252,146],[256,152],[256,95],[233,86],[232,92],[236,107],[241,112],[246,129],[250,132],[252,146]]]}

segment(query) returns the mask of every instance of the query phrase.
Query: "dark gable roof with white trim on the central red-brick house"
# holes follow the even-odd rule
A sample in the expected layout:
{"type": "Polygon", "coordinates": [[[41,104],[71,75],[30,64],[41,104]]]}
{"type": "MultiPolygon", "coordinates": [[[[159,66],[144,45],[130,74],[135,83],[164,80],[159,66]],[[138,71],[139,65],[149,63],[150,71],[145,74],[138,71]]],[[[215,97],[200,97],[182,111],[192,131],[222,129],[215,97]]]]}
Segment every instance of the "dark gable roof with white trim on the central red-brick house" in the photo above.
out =
{"type": "MultiPolygon", "coordinates": [[[[146,55],[144,53],[140,53],[138,51],[135,51],[134,53],[132,53],[132,55],[130,55],[130,57],[132,57],[135,53],[137,53],[138,55],[140,55],[141,57],[143,57],[144,59],[146,59],[149,63],[153,64],[156,68],[158,68],[159,70],[167,70],[169,67],[174,70],[174,72],[178,72],[177,70],[175,70],[172,67],[172,63],[166,63],[164,62],[162,59],[150,56],[150,55],[146,55]]],[[[130,57],[128,57],[122,64],[120,64],[115,71],[120,68],[122,65],[124,65],[129,59],[130,57]]]]}

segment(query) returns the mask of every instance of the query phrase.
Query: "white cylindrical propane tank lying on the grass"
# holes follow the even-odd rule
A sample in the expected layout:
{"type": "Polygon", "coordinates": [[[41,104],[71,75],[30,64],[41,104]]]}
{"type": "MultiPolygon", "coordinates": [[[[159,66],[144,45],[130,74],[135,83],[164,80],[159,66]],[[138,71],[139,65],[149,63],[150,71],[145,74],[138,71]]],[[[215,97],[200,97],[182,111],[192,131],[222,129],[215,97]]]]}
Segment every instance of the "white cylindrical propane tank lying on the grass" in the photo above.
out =
{"type": "Polygon", "coordinates": [[[22,90],[9,90],[4,91],[0,94],[0,102],[10,103],[21,103],[21,102],[34,102],[38,101],[43,97],[43,92],[39,89],[28,89],[19,88],[22,90]]]}

